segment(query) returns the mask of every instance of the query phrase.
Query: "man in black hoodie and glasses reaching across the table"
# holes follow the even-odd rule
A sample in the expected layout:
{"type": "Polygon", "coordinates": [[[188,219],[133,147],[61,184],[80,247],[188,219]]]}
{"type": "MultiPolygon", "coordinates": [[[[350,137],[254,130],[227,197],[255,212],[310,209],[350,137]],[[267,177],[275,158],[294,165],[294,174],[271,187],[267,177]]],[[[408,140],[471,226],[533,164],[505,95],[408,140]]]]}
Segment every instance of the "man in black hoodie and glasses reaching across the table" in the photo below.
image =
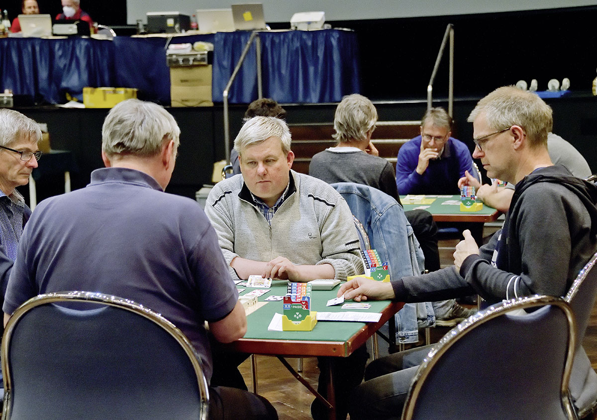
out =
{"type": "MultiPolygon", "coordinates": [[[[418,302],[476,293],[495,303],[566,294],[597,250],[597,187],[552,164],[547,152],[552,110],[536,94],[498,88],[479,101],[469,122],[475,136],[473,158],[481,159],[488,177],[516,184],[503,228],[481,249],[465,231],[454,252],[455,267],[391,283],[353,279],[338,295],[355,301],[418,302]]],[[[400,413],[416,366],[428,351],[416,348],[372,362],[365,382],[356,388],[350,418],[400,413]]],[[[597,399],[597,374],[584,351],[579,353],[570,392],[582,410],[597,399]]]]}

